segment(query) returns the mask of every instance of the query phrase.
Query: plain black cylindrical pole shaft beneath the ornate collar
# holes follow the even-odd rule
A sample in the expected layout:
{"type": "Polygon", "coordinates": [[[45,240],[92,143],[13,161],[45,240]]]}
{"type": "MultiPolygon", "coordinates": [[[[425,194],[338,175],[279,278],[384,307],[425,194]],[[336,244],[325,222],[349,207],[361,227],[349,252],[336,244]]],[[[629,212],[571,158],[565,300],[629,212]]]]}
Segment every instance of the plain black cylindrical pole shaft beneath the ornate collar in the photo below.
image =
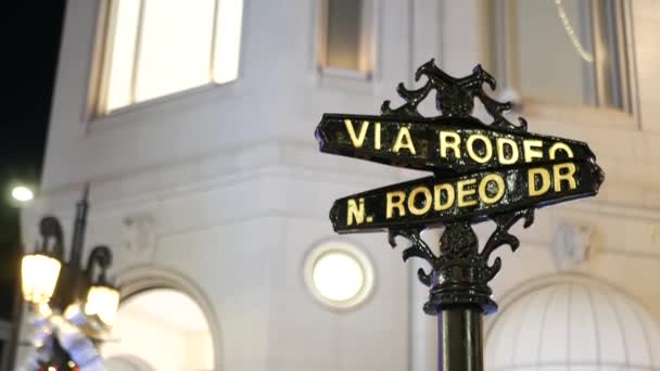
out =
{"type": "Polygon", "coordinates": [[[482,318],[479,308],[452,308],[437,315],[441,371],[483,371],[482,318]]]}

